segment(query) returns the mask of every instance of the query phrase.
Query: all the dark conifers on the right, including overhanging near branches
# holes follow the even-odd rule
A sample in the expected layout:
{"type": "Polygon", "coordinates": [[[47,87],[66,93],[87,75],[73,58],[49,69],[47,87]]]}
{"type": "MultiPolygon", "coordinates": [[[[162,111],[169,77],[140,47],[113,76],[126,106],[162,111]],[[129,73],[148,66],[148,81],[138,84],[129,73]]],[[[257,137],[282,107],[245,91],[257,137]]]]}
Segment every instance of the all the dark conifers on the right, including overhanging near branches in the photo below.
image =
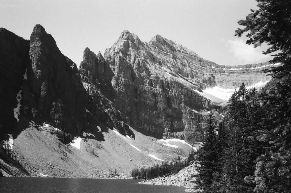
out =
{"type": "Polygon", "coordinates": [[[198,184],[204,192],[291,192],[291,1],[256,0],[240,20],[236,36],[247,32],[247,44],[267,43],[276,52],[264,72],[273,77],[267,88],[242,83],[228,102],[219,125],[210,115],[198,150],[198,184]]]}

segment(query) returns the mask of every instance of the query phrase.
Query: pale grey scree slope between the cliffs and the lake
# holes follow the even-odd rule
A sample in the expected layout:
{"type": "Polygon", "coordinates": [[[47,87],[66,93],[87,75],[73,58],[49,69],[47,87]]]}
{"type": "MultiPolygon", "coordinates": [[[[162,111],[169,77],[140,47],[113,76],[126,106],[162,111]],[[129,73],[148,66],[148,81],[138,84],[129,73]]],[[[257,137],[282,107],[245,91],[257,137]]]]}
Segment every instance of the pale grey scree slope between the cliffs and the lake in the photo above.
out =
{"type": "MultiPolygon", "coordinates": [[[[149,154],[161,160],[172,160],[177,156],[186,158],[191,149],[184,144],[179,148],[165,146],[157,143],[154,137],[145,136],[132,128],[135,139],[116,134],[101,125],[100,129],[93,134],[102,135],[102,140],[98,141],[92,135],[80,136],[82,140],[78,149],[70,145],[59,147],[57,137],[52,134],[57,130],[42,127],[41,131],[30,123],[17,137],[13,136],[13,152],[30,176],[34,177],[130,178],[133,168],[161,162],[149,154]],[[109,173],[109,169],[116,169],[116,175],[109,173]]],[[[2,160],[0,162],[6,164],[2,160]]],[[[10,172],[1,170],[5,176],[25,176],[11,166],[10,172]]]]}

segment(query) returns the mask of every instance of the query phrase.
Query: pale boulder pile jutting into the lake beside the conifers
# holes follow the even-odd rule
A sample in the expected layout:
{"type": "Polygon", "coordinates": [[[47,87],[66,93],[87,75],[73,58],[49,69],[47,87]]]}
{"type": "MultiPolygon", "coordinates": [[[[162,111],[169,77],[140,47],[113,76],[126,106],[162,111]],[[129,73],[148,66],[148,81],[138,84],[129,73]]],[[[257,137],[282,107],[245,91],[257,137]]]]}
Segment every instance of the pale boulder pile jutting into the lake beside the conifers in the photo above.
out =
{"type": "Polygon", "coordinates": [[[181,186],[186,188],[185,192],[202,192],[202,190],[196,187],[196,176],[198,175],[197,167],[198,164],[192,164],[175,175],[144,180],[140,182],[140,184],[181,186]]]}

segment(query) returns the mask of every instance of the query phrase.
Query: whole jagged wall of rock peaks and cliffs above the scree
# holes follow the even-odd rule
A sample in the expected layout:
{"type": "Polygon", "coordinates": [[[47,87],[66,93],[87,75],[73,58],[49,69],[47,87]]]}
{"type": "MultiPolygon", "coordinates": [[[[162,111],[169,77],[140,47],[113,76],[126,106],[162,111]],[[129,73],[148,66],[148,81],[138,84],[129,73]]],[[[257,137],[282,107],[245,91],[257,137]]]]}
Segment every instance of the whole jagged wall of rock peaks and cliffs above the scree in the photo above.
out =
{"type": "MultiPolygon", "coordinates": [[[[101,122],[134,137],[129,124],[156,138],[175,137],[194,143],[202,140],[209,111],[219,120],[219,114],[225,109],[201,95],[204,88],[225,85],[236,88],[242,81],[252,84],[269,78],[260,72],[262,68],[256,68],[267,64],[233,70],[204,60],[162,36],[144,43],[128,31],[121,33],[104,57],[86,48],[78,70],[75,63],[61,54],[42,26],[36,25],[30,41],[8,30],[1,31],[6,31],[2,33],[1,44],[8,42],[10,47],[15,47],[1,59],[5,69],[1,83],[6,85],[7,75],[13,71],[17,71],[13,73],[18,80],[12,81],[13,88],[17,88],[9,94],[12,100],[1,103],[2,109],[9,112],[1,115],[1,130],[12,128],[13,124],[8,127],[8,123],[17,124],[12,107],[17,107],[15,96],[22,88],[20,121],[23,117],[38,124],[47,122],[72,135],[95,130],[101,122]],[[15,39],[23,49],[19,49],[15,39]],[[16,68],[11,69],[13,54],[23,56],[19,59],[22,62],[15,63],[16,68]],[[239,79],[237,74],[242,72],[246,78],[239,79]],[[27,79],[23,79],[25,74],[27,79]],[[231,83],[227,81],[230,78],[234,79],[231,83]]],[[[1,51],[4,49],[2,46],[1,51]]],[[[1,93],[6,93],[8,88],[2,88],[1,93]]]]}

